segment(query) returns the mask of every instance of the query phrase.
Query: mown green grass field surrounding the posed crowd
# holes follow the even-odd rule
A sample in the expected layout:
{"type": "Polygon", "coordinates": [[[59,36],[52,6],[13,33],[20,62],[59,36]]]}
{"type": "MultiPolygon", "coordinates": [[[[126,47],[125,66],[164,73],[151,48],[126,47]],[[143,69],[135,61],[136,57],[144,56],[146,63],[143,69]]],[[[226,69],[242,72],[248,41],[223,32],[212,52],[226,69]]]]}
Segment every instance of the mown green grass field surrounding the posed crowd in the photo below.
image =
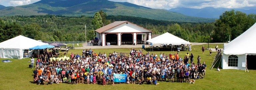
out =
{"type": "MultiPolygon", "coordinates": [[[[77,85],[70,85],[70,84],[53,84],[53,85],[36,85],[33,84],[33,69],[28,68],[28,61],[27,59],[9,59],[11,63],[0,63],[0,90],[30,90],[30,89],[41,89],[41,90],[78,90],[78,89],[98,89],[98,90],[255,90],[255,77],[256,77],[256,70],[249,70],[250,72],[245,72],[244,70],[235,70],[235,69],[221,69],[220,71],[216,71],[216,68],[210,69],[211,63],[213,61],[213,57],[216,52],[213,52],[212,56],[209,56],[209,51],[206,50],[204,54],[202,54],[201,47],[203,45],[193,45],[192,51],[189,52],[193,53],[195,56],[200,55],[202,61],[206,62],[206,77],[204,79],[196,80],[195,84],[188,84],[188,83],[178,83],[177,79],[175,78],[174,83],[171,82],[158,82],[159,85],[138,85],[138,84],[115,84],[115,86],[107,85],[87,85],[87,84],[77,84],[77,85]]],[[[207,48],[207,45],[204,45],[207,48]]],[[[215,44],[210,44],[211,48],[215,47],[215,44]]],[[[223,45],[219,45],[220,48],[223,45]]],[[[122,52],[122,53],[129,53],[128,49],[93,49],[97,54],[99,52],[122,52]]],[[[147,50],[147,49],[146,49],[147,50]]],[[[70,50],[68,55],[74,52],[81,54],[82,49],[75,49],[70,50]]],[[[143,51],[146,53],[147,51],[143,51]]],[[[151,53],[160,54],[162,53],[175,53],[173,51],[153,51],[151,53]]],[[[188,51],[181,51],[179,52],[179,56],[184,57],[188,51]]],[[[6,60],[6,59],[0,59],[6,60]]],[[[218,64],[216,64],[216,67],[218,64]]],[[[220,65],[221,66],[221,65],[220,65]]]]}

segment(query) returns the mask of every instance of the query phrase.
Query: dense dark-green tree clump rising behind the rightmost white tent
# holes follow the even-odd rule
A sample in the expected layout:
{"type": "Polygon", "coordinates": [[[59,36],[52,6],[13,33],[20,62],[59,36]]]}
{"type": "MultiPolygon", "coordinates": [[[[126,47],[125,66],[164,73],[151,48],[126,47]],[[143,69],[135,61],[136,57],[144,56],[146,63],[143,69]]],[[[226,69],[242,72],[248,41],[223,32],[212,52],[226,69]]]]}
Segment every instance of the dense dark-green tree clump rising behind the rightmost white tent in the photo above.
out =
{"type": "Polygon", "coordinates": [[[253,15],[246,15],[243,12],[230,10],[225,11],[214,25],[214,42],[227,42],[229,36],[231,40],[242,34],[255,23],[253,15]],[[249,21],[249,22],[248,22],[249,21]],[[253,22],[254,21],[254,22],[253,22]]]}

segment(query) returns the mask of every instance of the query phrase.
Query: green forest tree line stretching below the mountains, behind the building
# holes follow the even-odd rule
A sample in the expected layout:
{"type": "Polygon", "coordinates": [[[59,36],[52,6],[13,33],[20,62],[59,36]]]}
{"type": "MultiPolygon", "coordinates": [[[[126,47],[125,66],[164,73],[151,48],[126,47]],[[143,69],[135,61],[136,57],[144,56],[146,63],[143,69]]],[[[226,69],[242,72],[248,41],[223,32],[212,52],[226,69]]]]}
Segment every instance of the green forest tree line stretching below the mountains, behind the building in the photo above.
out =
{"type": "Polygon", "coordinates": [[[0,42],[18,35],[42,41],[87,41],[96,36],[94,30],[114,21],[130,21],[152,30],[153,34],[169,32],[190,42],[227,42],[229,36],[233,40],[252,26],[256,22],[256,15],[246,15],[234,10],[225,11],[219,19],[210,23],[107,16],[103,11],[95,13],[94,17],[5,16],[0,17],[0,42]]]}

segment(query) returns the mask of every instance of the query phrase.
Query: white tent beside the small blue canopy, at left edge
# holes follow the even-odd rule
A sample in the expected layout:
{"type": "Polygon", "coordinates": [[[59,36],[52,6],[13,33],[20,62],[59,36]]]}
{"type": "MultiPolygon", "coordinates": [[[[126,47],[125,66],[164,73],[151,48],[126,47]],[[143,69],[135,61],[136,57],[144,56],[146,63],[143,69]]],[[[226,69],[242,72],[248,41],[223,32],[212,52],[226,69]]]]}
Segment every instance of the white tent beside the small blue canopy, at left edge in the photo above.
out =
{"type": "MultiPolygon", "coordinates": [[[[0,43],[0,58],[24,58],[24,51],[37,45],[48,45],[22,35],[0,43]]],[[[26,52],[27,55],[29,52],[26,52]]]]}

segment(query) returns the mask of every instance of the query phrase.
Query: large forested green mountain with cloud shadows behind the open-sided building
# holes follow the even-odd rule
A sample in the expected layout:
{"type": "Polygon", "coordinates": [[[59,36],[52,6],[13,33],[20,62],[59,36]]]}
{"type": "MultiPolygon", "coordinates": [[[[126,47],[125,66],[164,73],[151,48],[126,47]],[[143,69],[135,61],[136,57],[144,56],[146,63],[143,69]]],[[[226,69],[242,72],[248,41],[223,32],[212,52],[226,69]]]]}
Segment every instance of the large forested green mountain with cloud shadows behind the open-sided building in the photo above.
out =
{"type": "Polygon", "coordinates": [[[62,15],[89,16],[100,10],[111,16],[134,16],[172,22],[213,22],[215,19],[186,16],[162,9],[152,9],[128,2],[108,0],[41,0],[33,4],[0,9],[0,16],[62,15]]]}

